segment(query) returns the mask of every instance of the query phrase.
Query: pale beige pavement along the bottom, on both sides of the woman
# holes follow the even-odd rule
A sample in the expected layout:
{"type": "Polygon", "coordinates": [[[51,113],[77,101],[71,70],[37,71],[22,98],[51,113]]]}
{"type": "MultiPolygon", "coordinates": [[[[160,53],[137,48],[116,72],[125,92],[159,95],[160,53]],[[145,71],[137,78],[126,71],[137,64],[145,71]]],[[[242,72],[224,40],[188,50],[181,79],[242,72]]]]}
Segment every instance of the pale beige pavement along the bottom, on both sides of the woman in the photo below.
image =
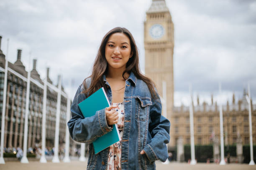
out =
{"type": "MultiPolygon", "coordinates": [[[[52,163],[47,160],[47,163],[40,163],[38,159],[28,159],[29,163],[20,163],[17,160],[5,160],[5,164],[0,164],[0,170],[85,170],[87,161],[80,162],[79,160],[71,160],[70,163],[52,163]]],[[[169,163],[162,164],[156,162],[156,170],[256,170],[256,165],[248,164],[228,164],[217,165],[214,163],[197,163],[189,165],[187,163],[169,163]]]]}

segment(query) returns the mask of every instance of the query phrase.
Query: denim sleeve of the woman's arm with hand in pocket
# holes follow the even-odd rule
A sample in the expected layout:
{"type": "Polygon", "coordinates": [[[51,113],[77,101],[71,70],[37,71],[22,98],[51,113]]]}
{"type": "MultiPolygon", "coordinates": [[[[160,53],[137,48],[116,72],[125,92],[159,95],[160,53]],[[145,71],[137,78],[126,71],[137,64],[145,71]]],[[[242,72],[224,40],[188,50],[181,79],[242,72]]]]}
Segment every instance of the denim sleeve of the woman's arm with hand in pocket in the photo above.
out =
{"type": "Polygon", "coordinates": [[[148,131],[152,138],[143,150],[149,161],[161,160],[164,162],[168,158],[166,144],[170,140],[170,122],[161,115],[162,107],[159,95],[151,100],[148,131]]]}

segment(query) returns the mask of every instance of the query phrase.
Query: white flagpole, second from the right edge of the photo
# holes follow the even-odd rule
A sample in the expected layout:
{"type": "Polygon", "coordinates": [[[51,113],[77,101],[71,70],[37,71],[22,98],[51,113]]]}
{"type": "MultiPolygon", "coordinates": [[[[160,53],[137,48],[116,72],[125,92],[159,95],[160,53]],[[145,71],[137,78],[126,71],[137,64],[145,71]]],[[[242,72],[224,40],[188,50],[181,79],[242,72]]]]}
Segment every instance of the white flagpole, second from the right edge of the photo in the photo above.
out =
{"type": "Polygon", "coordinates": [[[220,105],[220,165],[225,165],[224,160],[224,137],[223,137],[223,112],[222,112],[222,103],[221,103],[221,83],[219,82],[219,105],[220,105]]]}

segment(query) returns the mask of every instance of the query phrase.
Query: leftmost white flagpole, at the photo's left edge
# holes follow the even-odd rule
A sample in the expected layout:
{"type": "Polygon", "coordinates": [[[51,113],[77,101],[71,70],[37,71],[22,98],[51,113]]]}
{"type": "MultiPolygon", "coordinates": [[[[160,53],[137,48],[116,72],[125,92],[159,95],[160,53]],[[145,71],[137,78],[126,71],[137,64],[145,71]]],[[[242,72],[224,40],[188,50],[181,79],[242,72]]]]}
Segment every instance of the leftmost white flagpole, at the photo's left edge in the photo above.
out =
{"type": "Polygon", "coordinates": [[[7,91],[7,73],[8,73],[8,47],[9,47],[9,38],[7,39],[7,52],[5,56],[5,78],[4,78],[4,89],[3,89],[3,108],[2,108],[2,124],[1,124],[1,154],[0,154],[0,164],[5,164],[3,158],[3,145],[5,138],[5,108],[6,108],[6,91],[7,91]]]}

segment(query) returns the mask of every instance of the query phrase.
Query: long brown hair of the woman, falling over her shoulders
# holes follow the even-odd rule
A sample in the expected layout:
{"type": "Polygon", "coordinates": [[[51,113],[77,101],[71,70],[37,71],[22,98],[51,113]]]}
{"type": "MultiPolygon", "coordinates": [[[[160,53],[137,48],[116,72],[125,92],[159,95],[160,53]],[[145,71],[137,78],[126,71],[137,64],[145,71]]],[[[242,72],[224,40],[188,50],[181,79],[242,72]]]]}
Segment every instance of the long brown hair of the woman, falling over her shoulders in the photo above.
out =
{"type": "Polygon", "coordinates": [[[106,86],[105,86],[105,83],[103,82],[103,77],[102,77],[108,71],[108,69],[107,69],[108,62],[105,57],[105,46],[106,46],[106,43],[108,42],[109,37],[112,34],[117,33],[117,32],[127,35],[127,37],[129,37],[130,42],[131,42],[132,57],[130,57],[130,59],[126,63],[126,69],[123,72],[123,78],[125,80],[128,78],[128,77],[127,78],[124,77],[125,72],[127,72],[129,74],[131,72],[133,72],[134,75],[138,79],[143,80],[148,85],[148,89],[150,90],[151,96],[156,96],[156,91],[155,91],[156,85],[150,78],[146,77],[145,75],[143,75],[141,73],[141,70],[139,67],[138,49],[135,44],[135,40],[133,39],[133,35],[126,28],[120,28],[120,27],[113,28],[103,37],[101,44],[100,44],[100,48],[97,52],[97,56],[95,58],[95,61],[94,61],[93,67],[92,67],[92,75],[89,76],[92,79],[90,87],[86,88],[87,87],[86,79],[89,78],[89,77],[87,77],[84,79],[84,82],[83,82],[84,90],[82,92],[86,96],[87,95],[90,96],[94,92],[99,90],[101,87],[104,87],[106,90],[106,86]]]}

